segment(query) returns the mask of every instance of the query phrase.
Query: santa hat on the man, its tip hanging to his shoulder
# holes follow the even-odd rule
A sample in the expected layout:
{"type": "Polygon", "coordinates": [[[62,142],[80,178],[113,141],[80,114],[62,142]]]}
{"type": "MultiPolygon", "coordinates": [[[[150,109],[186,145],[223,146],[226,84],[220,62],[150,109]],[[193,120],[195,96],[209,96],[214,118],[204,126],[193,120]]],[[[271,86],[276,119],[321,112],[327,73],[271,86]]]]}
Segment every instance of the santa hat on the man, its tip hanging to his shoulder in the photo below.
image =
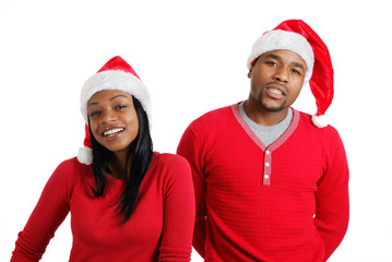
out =
{"type": "Polygon", "coordinates": [[[306,62],[304,85],[309,83],[317,105],[312,122],[318,128],[326,127],[324,114],[333,98],[333,68],[328,47],[304,21],[287,20],[256,40],[247,61],[248,69],[262,53],[277,49],[294,51],[306,62]]]}

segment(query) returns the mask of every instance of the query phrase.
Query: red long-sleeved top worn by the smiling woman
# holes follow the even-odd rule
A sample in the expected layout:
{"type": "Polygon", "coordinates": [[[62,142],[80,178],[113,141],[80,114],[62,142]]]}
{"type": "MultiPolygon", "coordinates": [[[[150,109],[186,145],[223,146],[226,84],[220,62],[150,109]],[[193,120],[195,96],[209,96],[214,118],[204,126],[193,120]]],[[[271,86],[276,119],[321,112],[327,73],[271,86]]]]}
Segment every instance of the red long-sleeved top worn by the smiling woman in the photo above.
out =
{"type": "Polygon", "coordinates": [[[70,261],[190,261],[194,193],[186,159],[154,153],[134,214],[122,225],[116,204],[123,180],[108,177],[106,194],[95,198],[93,176],[76,158],[59,165],[19,235],[12,262],[38,261],[69,211],[70,261]]]}

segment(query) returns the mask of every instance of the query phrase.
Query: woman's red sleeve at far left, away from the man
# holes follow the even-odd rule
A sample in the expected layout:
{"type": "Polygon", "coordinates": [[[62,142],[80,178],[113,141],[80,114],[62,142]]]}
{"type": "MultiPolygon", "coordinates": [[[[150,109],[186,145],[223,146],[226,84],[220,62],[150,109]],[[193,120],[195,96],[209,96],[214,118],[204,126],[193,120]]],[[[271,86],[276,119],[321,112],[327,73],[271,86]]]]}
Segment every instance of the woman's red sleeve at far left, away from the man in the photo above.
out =
{"type": "Polygon", "coordinates": [[[19,234],[11,262],[41,259],[56,229],[70,210],[70,176],[67,172],[71,169],[70,165],[69,162],[60,164],[46,183],[26,226],[19,234]]]}

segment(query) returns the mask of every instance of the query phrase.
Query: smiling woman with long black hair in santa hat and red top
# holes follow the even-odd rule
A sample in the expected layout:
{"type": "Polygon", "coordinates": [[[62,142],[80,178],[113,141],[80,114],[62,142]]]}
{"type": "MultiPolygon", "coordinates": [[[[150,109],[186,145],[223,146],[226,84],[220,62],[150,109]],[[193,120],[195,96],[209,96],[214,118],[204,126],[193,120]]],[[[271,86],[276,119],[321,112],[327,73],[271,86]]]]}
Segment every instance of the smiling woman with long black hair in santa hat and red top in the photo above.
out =
{"type": "Polygon", "coordinates": [[[85,147],[47,182],[11,261],[40,260],[71,212],[70,261],[190,261],[194,195],[188,163],[153,152],[150,95],[120,57],[84,84],[85,147]]]}

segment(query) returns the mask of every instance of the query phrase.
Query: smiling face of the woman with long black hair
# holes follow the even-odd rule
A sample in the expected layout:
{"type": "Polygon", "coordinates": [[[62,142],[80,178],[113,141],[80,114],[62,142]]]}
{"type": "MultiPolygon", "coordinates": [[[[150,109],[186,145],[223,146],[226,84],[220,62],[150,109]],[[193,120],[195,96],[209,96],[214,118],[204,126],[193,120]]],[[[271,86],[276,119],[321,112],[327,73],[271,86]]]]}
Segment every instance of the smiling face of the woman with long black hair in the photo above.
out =
{"type": "Polygon", "coordinates": [[[87,103],[90,128],[96,141],[112,153],[127,153],[139,133],[139,120],[132,95],[105,90],[87,103]]]}

